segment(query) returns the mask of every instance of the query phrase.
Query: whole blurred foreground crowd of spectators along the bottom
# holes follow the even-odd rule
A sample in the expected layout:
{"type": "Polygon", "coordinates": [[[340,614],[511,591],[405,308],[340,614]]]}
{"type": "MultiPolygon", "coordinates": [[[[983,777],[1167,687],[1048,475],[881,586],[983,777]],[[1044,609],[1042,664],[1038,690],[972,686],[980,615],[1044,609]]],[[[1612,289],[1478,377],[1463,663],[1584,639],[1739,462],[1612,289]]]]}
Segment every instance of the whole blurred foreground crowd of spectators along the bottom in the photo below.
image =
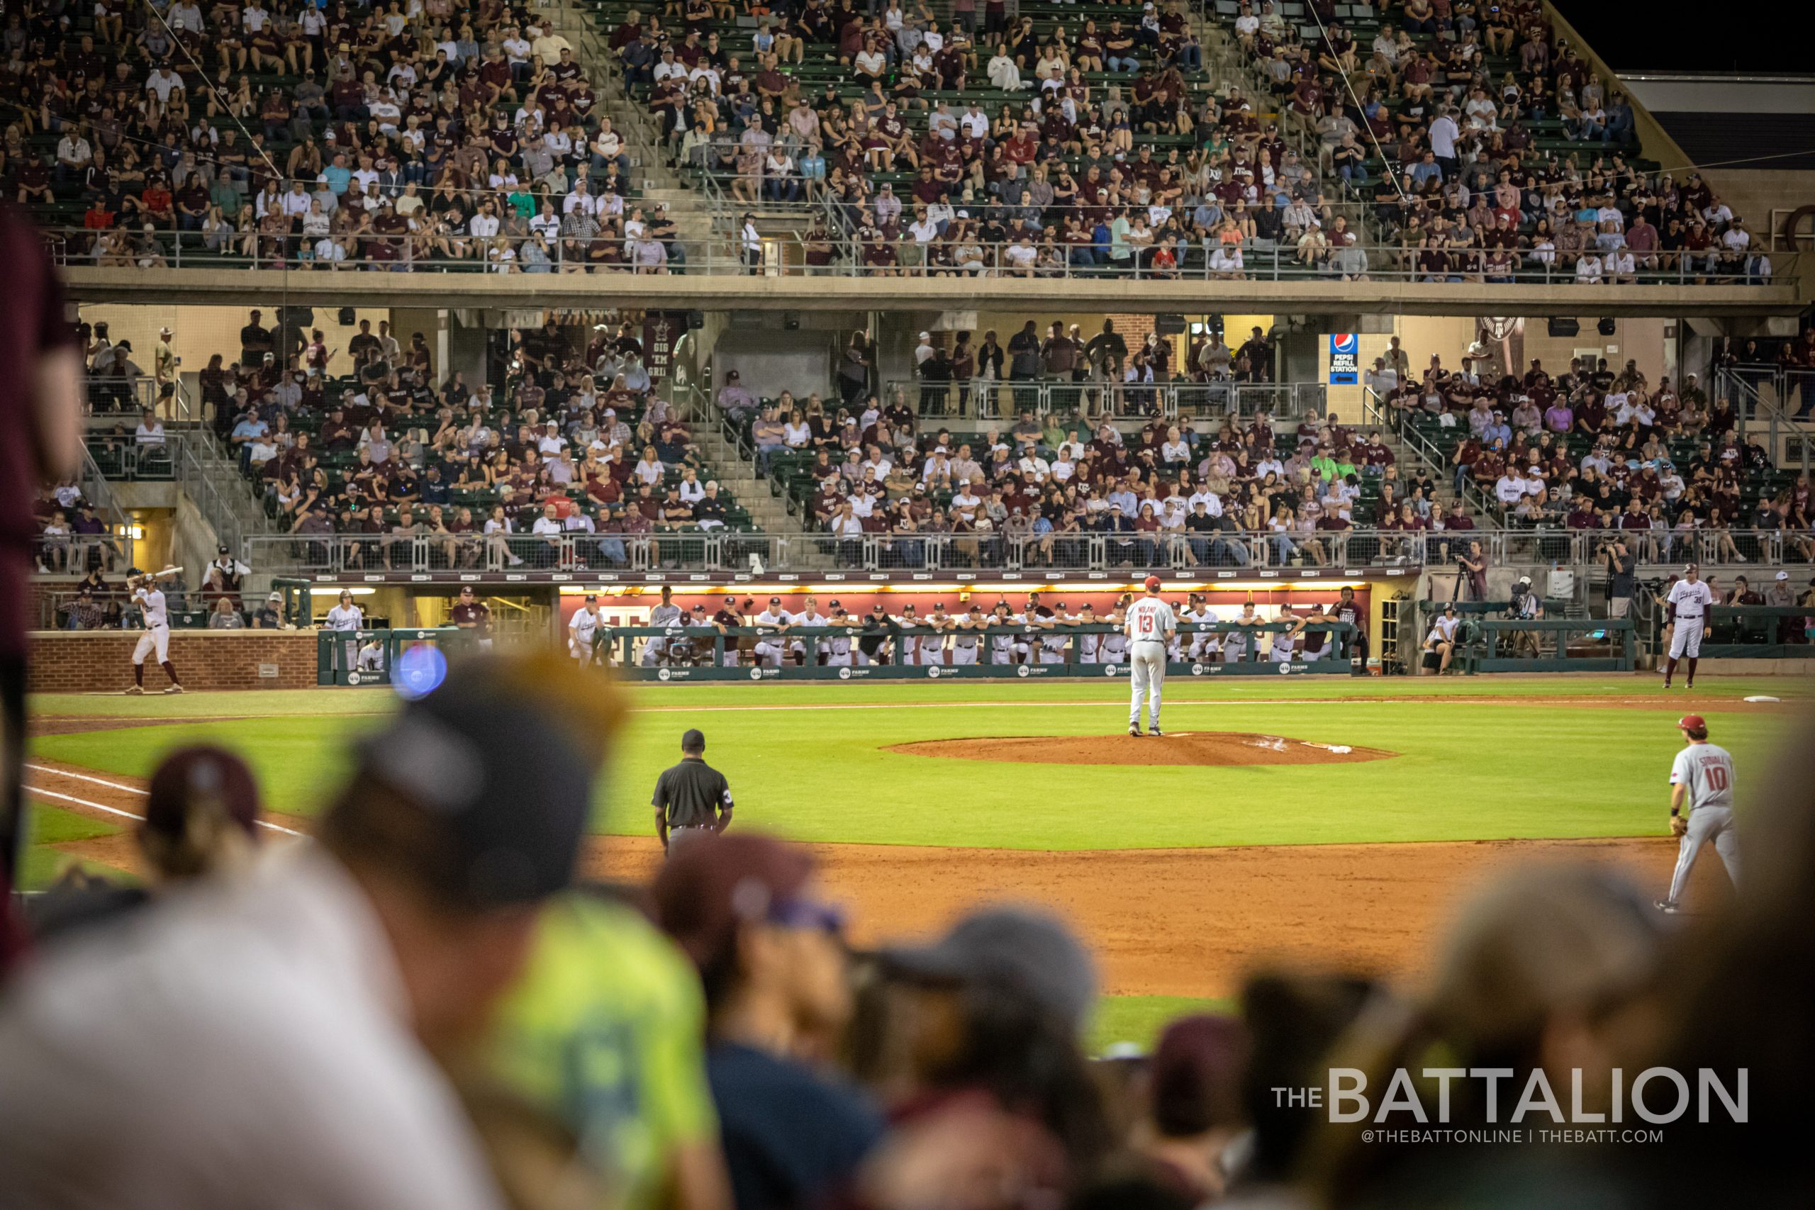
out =
{"type": "Polygon", "coordinates": [[[1514,869],[1416,987],[1256,954],[1229,1010],[1091,1058],[1104,971],[1047,911],[975,907],[915,942],[866,922],[857,949],[813,854],[748,809],[711,834],[728,811],[690,805],[686,844],[664,822],[652,887],[575,885],[621,713],[554,655],[457,666],[347,753],[294,842],[234,756],[171,756],[149,885],[73,874],[5,971],[9,1186],[45,1206],[1189,1210],[1704,1205],[1741,1179],[1808,1201],[1781,1143],[1810,1076],[1808,990],[1782,980],[1815,925],[1806,780],[1755,798],[1771,842],[1713,927],[1666,927],[1608,867],[1514,869]],[[1432,1056],[1490,1065],[1457,1061],[1439,1103],[1432,1056]],[[1332,1067],[1361,1072],[1356,1123],[1283,1096],[1332,1067]],[[1565,1128],[1664,1112],[1619,1076],[1659,1069],[1701,1072],[1710,1112],[1663,1127],[1683,1147],[1565,1128]],[[1496,1145],[1506,1088],[1548,1108],[1496,1145]],[[1410,1107],[1483,1141],[1430,1141],[1410,1107]]]}

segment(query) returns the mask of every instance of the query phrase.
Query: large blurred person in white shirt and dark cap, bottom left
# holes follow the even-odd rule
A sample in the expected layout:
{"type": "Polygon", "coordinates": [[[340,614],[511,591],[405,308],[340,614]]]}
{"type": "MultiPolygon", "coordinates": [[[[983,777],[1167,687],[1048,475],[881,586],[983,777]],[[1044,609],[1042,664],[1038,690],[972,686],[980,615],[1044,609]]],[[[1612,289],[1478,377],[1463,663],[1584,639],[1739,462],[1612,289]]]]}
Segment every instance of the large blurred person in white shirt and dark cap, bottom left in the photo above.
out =
{"type": "Polygon", "coordinates": [[[47,952],[0,1005],[0,1172],[31,1206],[501,1205],[434,1056],[563,891],[621,702],[476,659],[358,753],[319,842],[47,952]]]}

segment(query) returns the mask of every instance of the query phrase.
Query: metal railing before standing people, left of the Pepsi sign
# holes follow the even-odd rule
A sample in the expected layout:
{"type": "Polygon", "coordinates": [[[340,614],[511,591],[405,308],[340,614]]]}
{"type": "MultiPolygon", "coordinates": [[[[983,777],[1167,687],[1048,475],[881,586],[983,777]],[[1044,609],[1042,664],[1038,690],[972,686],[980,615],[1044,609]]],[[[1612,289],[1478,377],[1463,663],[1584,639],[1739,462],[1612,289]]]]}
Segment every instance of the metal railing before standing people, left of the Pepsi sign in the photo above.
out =
{"type": "Polygon", "coordinates": [[[1035,415],[1082,415],[1105,421],[1151,419],[1252,419],[1260,414],[1296,417],[1316,408],[1321,415],[1329,392],[1323,383],[1113,383],[1098,377],[1065,379],[891,379],[884,401],[906,401],[922,421],[1013,421],[1035,415]]]}

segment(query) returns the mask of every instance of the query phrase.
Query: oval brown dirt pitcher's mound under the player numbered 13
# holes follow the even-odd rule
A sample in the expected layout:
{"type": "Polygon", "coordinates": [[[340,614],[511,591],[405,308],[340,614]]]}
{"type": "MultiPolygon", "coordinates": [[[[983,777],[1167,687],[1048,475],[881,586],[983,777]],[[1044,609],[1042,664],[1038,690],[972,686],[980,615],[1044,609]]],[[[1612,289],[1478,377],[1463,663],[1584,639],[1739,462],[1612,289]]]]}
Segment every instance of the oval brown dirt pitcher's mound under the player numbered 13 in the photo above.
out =
{"type": "Polygon", "coordinates": [[[975,740],[922,740],[884,751],[951,760],[1011,760],[1065,766],[1318,766],[1385,760],[1399,753],[1379,747],[1310,744],[1245,731],[1180,731],[1143,735],[1018,735],[975,740]]]}

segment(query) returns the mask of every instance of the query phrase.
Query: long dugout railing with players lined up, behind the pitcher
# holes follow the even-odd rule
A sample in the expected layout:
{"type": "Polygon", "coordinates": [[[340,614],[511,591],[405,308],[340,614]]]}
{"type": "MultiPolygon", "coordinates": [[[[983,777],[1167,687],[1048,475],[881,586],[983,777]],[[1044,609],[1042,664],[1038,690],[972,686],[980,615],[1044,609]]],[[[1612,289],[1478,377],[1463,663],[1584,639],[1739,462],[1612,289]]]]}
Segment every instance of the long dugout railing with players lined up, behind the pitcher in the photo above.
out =
{"type": "MultiPolygon", "coordinates": [[[[1274,659],[1270,635],[1298,629],[1298,622],[1187,622],[1180,626],[1180,646],[1185,659],[1167,662],[1169,677],[1281,677],[1281,675],[1350,675],[1354,669],[1350,644],[1354,626],[1349,622],[1318,622],[1307,628],[1321,637],[1316,653],[1305,651],[1305,635],[1298,637],[1292,659],[1274,659]],[[1229,637],[1241,642],[1231,651],[1229,637]],[[1269,635],[1261,642],[1261,635],[1269,635]],[[1194,639],[1214,637],[1216,653],[1198,651],[1191,659],[1194,639]],[[1265,649],[1263,649],[1265,648],[1265,649]]],[[[1031,678],[1031,677],[1125,677],[1125,653],[1107,659],[1104,639],[1120,633],[1120,626],[1060,624],[1035,628],[1027,624],[986,626],[962,631],[976,639],[976,646],[960,655],[958,631],[944,631],[946,649],[937,662],[922,662],[920,644],[906,639],[937,639],[940,631],[927,626],[795,626],[777,629],[768,626],[612,626],[594,635],[594,657],[617,668],[630,680],[940,680],[967,678],[1031,678]],[[1096,642],[1093,644],[1091,639],[1096,642]],[[998,642],[1000,640],[1000,642],[998,642]],[[759,651],[760,648],[760,651],[759,651]],[[967,659],[973,657],[973,659],[967,659]]]]}

